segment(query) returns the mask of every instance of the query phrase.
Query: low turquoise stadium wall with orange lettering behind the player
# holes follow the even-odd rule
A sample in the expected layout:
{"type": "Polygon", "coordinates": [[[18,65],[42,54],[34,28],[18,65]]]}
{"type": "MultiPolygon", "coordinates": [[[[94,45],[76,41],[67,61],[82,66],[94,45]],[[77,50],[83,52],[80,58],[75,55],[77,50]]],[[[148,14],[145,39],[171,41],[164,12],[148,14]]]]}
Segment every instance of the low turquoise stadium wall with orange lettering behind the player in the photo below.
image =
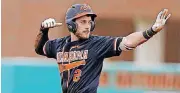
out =
{"type": "MultiPolygon", "coordinates": [[[[2,58],[2,93],[62,93],[55,60],[2,58]]],[[[104,62],[98,93],[180,93],[180,65],[104,62]],[[158,92],[157,92],[158,91],[158,92]]]]}

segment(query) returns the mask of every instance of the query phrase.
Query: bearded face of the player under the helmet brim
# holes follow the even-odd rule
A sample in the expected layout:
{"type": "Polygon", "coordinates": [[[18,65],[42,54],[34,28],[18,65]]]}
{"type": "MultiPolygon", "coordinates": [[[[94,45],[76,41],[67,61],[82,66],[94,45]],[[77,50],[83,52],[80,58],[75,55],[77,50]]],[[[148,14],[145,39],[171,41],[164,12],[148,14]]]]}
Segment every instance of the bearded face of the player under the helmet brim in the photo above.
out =
{"type": "Polygon", "coordinates": [[[79,39],[88,39],[90,35],[90,29],[91,29],[91,17],[90,16],[82,16],[75,21],[78,25],[77,31],[75,35],[79,39]]]}

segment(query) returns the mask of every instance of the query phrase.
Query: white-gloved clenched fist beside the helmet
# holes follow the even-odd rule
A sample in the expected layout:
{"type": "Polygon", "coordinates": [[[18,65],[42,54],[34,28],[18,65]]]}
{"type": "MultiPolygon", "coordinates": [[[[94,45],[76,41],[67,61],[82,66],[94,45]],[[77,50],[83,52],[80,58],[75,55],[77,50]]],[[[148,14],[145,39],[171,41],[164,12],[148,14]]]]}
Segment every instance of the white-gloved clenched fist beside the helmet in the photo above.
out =
{"type": "Polygon", "coordinates": [[[48,18],[41,23],[42,28],[53,28],[56,26],[56,21],[53,18],[48,18]]]}

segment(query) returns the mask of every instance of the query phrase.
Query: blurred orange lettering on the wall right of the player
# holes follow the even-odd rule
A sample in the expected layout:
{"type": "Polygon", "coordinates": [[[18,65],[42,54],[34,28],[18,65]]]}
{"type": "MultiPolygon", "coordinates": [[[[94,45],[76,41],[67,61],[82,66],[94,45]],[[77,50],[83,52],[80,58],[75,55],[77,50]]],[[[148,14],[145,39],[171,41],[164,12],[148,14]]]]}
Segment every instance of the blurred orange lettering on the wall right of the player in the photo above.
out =
{"type": "MultiPolygon", "coordinates": [[[[149,73],[122,71],[110,76],[103,72],[100,78],[101,86],[108,86],[110,77],[114,78],[114,85],[119,88],[134,89],[160,89],[180,90],[180,74],[174,73],[149,73]]],[[[157,92],[158,93],[158,92],[157,92]]]]}

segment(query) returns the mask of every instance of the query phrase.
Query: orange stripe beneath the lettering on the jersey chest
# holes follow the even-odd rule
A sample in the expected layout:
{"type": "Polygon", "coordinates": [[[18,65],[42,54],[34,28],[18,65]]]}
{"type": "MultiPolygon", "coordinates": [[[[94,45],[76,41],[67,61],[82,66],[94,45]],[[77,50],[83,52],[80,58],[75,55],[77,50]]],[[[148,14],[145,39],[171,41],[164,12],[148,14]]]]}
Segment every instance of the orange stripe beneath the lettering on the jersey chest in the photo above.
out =
{"type": "Polygon", "coordinates": [[[70,64],[58,64],[58,66],[59,66],[60,72],[63,72],[63,71],[78,67],[80,65],[85,65],[85,63],[86,63],[85,61],[76,61],[70,64]]]}

